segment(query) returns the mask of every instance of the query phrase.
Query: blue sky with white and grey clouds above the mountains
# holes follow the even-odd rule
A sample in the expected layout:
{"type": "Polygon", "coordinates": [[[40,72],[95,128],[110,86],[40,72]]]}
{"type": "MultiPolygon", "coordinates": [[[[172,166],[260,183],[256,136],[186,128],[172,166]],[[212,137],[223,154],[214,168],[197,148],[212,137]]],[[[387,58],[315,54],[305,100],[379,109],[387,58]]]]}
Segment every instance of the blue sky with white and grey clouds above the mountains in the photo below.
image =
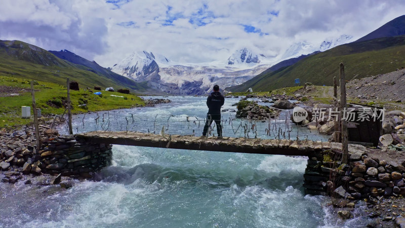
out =
{"type": "Polygon", "coordinates": [[[276,56],[297,42],[356,39],[404,13],[405,1],[388,0],[2,0],[0,40],[67,49],[105,67],[142,50],[210,62],[244,47],[276,56]]]}

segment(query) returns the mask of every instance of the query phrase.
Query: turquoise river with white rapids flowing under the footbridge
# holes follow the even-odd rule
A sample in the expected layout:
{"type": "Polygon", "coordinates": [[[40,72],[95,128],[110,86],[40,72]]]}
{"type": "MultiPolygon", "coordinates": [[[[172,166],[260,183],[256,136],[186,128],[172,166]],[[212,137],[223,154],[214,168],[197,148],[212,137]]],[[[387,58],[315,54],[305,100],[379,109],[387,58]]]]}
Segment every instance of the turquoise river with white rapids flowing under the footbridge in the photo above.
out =
{"type": "MultiPolygon", "coordinates": [[[[74,133],[107,128],[160,132],[164,127],[166,134],[201,135],[203,126],[198,127],[198,122],[204,120],[208,110],[206,98],[168,99],[172,102],[156,107],[74,116],[74,133]]],[[[242,126],[240,123],[245,123],[233,120],[235,106],[232,104],[237,101],[237,98],[227,98],[223,106],[228,109],[222,113],[224,119],[232,120],[232,124],[224,123],[225,137],[245,134],[240,128],[235,133],[242,126]]],[[[288,112],[281,113],[278,128],[286,129],[287,115],[288,112]]],[[[267,122],[252,123],[257,131],[252,131],[250,137],[276,137],[265,132],[267,122]]],[[[298,131],[301,139],[327,140],[291,123],[287,128],[292,129],[292,138],[298,131]]],[[[63,126],[59,130],[65,133],[63,126]]],[[[15,185],[0,183],[3,197],[0,226],[353,227],[367,224],[363,217],[345,222],[337,219],[336,212],[328,206],[328,197],[304,195],[306,157],[123,145],[114,145],[112,151],[113,165],[97,173],[99,181],[76,180],[67,190],[32,186],[23,180],[15,185]]]]}

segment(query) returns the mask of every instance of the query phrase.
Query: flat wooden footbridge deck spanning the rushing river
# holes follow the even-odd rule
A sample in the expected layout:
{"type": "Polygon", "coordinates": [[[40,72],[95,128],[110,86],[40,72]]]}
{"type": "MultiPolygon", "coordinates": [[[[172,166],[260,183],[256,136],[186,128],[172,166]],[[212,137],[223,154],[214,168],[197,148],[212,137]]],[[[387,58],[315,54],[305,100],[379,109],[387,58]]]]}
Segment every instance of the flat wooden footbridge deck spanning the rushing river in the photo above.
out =
{"type": "MultiPolygon", "coordinates": [[[[173,149],[210,150],[223,152],[236,152],[247,154],[312,156],[323,150],[341,151],[342,144],[337,142],[321,142],[311,140],[288,139],[249,139],[217,137],[201,138],[187,135],[156,135],[139,132],[111,132],[93,131],[76,134],[91,143],[108,143],[119,145],[161,147],[173,149]]],[[[367,148],[362,145],[349,144],[349,153],[355,157],[367,153],[367,148]]]]}

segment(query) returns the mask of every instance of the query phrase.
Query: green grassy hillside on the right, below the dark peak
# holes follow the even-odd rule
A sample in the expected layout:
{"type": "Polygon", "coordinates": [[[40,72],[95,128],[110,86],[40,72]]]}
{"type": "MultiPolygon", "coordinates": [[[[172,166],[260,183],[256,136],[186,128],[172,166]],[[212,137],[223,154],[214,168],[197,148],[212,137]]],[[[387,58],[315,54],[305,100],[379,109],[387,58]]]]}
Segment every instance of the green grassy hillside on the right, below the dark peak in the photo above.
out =
{"type": "Polygon", "coordinates": [[[232,87],[231,91],[268,91],[294,86],[294,79],[301,83],[332,85],[339,77],[339,64],[345,64],[346,79],[363,78],[394,71],[405,66],[405,36],[385,37],[371,41],[350,43],[302,59],[278,71],[262,73],[252,80],[232,87]]]}

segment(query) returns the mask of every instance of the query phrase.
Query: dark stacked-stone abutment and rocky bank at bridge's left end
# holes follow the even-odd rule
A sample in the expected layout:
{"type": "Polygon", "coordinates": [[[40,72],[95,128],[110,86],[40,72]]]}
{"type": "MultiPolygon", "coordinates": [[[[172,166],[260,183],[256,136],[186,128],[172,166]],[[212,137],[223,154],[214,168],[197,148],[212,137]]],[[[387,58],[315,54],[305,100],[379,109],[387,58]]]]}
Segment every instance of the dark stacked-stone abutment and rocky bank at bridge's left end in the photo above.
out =
{"type": "Polygon", "coordinates": [[[22,174],[91,177],[92,172],[110,164],[111,145],[57,136],[57,131],[44,127],[40,130],[42,147],[39,151],[33,144],[36,142],[33,127],[14,132],[2,130],[0,170],[5,174],[3,182],[15,183],[22,174]]]}

